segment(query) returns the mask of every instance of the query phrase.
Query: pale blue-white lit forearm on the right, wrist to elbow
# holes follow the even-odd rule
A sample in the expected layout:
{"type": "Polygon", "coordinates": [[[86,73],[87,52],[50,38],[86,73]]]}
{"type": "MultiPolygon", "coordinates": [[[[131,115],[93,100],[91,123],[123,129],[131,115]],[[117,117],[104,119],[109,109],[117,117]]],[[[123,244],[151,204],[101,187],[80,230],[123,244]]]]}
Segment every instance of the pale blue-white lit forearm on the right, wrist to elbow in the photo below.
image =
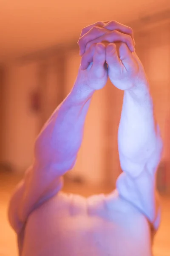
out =
{"type": "Polygon", "coordinates": [[[153,152],[161,151],[160,134],[147,84],[125,90],[118,143],[122,167],[127,169],[130,166],[132,172],[133,168],[142,171],[153,152]]]}

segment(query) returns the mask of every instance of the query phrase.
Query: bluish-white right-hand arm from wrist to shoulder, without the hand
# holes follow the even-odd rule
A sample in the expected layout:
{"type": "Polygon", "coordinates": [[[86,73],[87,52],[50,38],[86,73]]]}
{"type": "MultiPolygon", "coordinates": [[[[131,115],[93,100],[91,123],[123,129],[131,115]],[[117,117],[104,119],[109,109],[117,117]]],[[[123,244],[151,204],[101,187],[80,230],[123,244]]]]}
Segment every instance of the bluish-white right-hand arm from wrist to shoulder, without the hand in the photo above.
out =
{"type": "Polygon", "coordinates": [[[119,195],[135,205],[157,229],[160,220],[156,169],[162,141],[146,84],[125,90],[118,133],[123,173],[117,180],[119,195]]]}

